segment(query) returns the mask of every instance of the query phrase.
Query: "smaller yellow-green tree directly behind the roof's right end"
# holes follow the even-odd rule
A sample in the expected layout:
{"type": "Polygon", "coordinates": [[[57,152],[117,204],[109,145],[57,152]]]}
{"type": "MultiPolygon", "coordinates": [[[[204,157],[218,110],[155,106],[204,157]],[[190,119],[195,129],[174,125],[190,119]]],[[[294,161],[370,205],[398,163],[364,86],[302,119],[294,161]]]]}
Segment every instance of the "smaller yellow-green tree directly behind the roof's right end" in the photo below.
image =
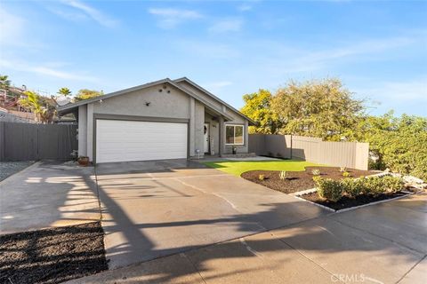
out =
{"type": "Polygon", "coordinates": [[[257,122],[256,126],[250,126],[250,133],[278,134],[282,122],[278,115],[271,110],[272,96],[270,91],[260,89],[258,92],[243,96],[245,106],[240,111],[257,122]]]}

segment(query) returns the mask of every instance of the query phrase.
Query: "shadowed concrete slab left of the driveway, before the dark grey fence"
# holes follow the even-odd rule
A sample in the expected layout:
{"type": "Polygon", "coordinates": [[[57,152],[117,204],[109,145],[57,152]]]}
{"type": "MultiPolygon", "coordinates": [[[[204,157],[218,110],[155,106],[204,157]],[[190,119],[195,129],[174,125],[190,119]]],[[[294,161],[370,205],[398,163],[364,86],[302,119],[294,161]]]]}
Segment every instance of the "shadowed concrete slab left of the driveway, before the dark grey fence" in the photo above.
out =
{"type": "Polygon", "coordinates": [[[100,220],[93,167],[36,162],[0,182],[0,234],[100,220]]]}

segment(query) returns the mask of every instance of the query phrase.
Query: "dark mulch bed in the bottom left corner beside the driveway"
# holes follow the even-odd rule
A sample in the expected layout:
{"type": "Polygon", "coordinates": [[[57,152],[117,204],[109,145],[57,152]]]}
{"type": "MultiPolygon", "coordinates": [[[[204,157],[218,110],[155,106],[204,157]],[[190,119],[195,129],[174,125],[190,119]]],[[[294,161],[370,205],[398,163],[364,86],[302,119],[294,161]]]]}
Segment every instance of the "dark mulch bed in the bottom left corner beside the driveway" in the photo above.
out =
{"type": "Polygon", "coordinates": [[[0,236],[0,283],[60,283],[108,269],[100,222],[0,236]]]}

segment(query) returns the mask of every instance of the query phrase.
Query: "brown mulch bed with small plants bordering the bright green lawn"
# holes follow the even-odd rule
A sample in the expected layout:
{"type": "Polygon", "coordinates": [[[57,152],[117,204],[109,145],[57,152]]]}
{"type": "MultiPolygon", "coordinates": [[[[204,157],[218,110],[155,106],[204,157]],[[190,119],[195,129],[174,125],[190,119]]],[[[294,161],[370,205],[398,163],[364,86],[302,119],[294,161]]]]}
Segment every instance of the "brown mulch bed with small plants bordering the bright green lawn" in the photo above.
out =
{"type": "MultiPolygon", "coordinates": [[[[335,167],[306,167],[305,171],[286,171],[285,180],[280,179],[280,170],[250,170],[244,172],[242,177],[282,193],[295,193],[315,187],[313,181],[314,176],[311,173],[311,171],[315,169],[320,170],[320,177],[333,179],[343,178],[340,168],[335,167]],[[264,175],[265,179],[260,180],[260,175],[264,175]]],[[[375,172],[369,170],[346,170],[350,173],[350,177],[361,177],[375,174],[375,172]]]]}

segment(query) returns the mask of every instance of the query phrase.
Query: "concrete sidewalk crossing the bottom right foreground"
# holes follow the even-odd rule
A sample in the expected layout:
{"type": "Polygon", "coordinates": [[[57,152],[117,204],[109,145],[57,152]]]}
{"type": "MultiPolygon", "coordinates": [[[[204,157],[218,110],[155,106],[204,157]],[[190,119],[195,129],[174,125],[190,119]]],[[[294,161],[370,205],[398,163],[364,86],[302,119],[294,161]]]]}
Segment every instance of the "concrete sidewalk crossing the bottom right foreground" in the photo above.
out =
{"type": "Polygon", "coordinates": [[[425,283],[427,195],[332,214],[69,283],[425,283]]]}

